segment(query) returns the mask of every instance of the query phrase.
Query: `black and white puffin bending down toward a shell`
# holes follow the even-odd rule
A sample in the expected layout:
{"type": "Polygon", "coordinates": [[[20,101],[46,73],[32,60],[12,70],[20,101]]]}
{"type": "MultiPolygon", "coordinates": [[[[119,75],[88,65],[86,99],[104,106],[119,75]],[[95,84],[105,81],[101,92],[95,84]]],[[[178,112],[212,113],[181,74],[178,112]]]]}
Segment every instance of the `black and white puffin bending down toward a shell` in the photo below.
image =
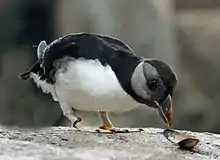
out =
{"type": "Polygon", "coordinates": [[[76,129],[141,131],[115,127],[109,118],[111,112],[140,105],[157,109],[166,126],[171,126],[177,76],[168,62],[139,56],[119,38],[88,32],[69,33],[49,44],[42,40],[36,50],[37,60],[18,77],[33,80],[50,94],[76,129]],[[74,110],[98,112],[102,126],[82,125],[74,110]]]}

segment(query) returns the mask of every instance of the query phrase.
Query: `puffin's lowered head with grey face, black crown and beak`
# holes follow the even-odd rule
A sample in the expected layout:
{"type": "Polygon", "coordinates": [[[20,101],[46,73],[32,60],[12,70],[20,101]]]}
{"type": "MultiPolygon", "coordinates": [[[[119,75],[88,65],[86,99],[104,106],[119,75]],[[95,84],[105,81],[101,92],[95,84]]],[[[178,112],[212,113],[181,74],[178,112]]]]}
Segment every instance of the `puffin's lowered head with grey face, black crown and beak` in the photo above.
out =
{"type": "Polygon", "coordinates": [[[144,103],[157,108],[160,117],[172,123],[172,95],[177,83],[174,70],[164,61],[147,59],[134,70],[131,85],[144,103]]]}

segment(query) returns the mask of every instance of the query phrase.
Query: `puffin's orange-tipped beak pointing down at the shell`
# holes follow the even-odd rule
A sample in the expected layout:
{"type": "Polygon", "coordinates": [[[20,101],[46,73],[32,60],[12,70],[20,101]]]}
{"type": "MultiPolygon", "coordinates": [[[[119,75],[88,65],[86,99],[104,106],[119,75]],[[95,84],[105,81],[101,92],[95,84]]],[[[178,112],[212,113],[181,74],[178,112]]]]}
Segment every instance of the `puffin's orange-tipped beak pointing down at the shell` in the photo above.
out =
{"type": "Polygon", "coordinates": [[[159,112],[160,117],[166,123],[167,127],[170,127],[172,120],[173,120],[173,109],[172,109],[171,96],[169,95],[167,99],[165,99],[160,104],[157,103],[157,106],[158,106],[158,112],[159,112]]]}

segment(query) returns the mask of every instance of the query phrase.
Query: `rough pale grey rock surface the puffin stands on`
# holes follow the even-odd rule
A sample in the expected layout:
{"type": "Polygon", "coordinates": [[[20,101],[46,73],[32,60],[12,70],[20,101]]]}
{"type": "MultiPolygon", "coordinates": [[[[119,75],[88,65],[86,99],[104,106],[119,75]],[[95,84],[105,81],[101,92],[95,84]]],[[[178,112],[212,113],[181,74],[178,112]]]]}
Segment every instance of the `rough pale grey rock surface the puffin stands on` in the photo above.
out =
{"type": "Polygon", "coordinates": [[[145,128],[141,133],[99,134],[69,127],[1,127],[0,159],[220,159],[220,135],[188,132],[200,143],[194,151],[184,151],[167,141],[162,131],[145,128]]]}

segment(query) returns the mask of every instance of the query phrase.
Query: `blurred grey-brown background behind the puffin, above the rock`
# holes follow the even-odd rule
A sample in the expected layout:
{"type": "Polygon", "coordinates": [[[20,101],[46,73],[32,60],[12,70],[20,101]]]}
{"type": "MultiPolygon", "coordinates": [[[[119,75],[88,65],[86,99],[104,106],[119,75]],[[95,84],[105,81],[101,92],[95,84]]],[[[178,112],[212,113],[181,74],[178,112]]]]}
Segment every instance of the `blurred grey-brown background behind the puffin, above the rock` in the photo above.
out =
{"type": "MultiPolygon", "coordinates": [[[[2,125],[70,125],[50,95],[17,75],[36,60],[41,40],[93,32],[173,66],[173,128],[220,133],[219,0],[1,0],[0,22],[2,125]]],[[[76,114],[100,125],[97,113],[76,114]]],[[[164,127],[157,111],[145,106],[110,116],[119,127],[164,127]]]]}

